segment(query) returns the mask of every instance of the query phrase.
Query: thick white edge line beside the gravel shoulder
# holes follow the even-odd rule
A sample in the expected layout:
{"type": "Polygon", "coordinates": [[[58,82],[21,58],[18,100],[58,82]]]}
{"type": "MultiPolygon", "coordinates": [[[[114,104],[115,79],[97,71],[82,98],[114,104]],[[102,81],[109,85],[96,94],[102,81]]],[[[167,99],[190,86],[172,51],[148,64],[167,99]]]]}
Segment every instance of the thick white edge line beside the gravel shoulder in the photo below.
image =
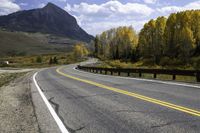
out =
{"type": "Polygon", "coordinates": [[[49,101],[47,100],[47,98],[45,97],[44,93],[42,92],[42,90],[40,89],[35,77],[36,75],[38,74],[38,72],[36,72],[34,75],[33,75],[33,81],[35,83],[35,86],[37,87],[38,89],[38,92],[40,93],[43,101],[45,102],[47,108],[49,109],[52,117],[54,118],[54,120],[56,121],[56,124],[58,125],[60,131],[62,133],[69,133],[69,131],[66,129],[65,125],[63,124],[63,122],[60,120],[60,118],[58,117],[58,115],[56,114],[56,112],[54,111],[53,107],[51,106],[51,104],[49,103],[49,101]]]}

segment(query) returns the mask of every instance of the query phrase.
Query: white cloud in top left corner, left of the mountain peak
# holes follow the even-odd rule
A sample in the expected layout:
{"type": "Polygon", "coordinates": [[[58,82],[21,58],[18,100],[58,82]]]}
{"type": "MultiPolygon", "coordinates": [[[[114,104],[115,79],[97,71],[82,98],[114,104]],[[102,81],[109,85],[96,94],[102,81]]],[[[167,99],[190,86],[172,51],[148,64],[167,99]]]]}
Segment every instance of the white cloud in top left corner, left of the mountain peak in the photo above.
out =
{"type": "Polygon", "coordinates": [[[14,3],[13,0],[1,0],[0,15],[7,15],[19,10],[20,6],[14,3]]]}

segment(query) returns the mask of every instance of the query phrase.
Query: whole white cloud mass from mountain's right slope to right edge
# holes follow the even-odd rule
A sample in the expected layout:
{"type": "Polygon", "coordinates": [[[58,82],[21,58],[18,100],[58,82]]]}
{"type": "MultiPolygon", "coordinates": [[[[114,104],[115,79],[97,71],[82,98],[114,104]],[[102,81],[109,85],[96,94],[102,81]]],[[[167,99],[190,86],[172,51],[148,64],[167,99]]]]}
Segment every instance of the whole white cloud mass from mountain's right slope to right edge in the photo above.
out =
{"type": "Polygon", "coordinates": [[[175,6],[159,0],[132,0],[132,3],[125,4],[119,0],[110,0],[102,4],[66,4],[64,9],[73,14],[79,25],[88,33],[95,35],[118,26],[132,25],[139,31],[147,20],[158,16],[167,17],[178,11],[200,9],[200,0],[188,2],[184,6],[175,6]],[[139,1],[144,4],[137,3],[139,1]]]}

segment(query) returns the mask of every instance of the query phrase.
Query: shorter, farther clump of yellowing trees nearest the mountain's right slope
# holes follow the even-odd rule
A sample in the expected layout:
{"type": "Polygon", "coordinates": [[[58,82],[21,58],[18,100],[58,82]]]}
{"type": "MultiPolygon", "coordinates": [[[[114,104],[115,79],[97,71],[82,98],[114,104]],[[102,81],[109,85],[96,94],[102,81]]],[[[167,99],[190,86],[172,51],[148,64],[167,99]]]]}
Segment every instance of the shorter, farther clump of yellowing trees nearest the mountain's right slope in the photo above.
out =
{"type": "Polygon", "coordinates": [[[135,56],[138,36],[132,27],[113,28],[97,35],[94,54],[101,58],[130,59],[135,56]]]}

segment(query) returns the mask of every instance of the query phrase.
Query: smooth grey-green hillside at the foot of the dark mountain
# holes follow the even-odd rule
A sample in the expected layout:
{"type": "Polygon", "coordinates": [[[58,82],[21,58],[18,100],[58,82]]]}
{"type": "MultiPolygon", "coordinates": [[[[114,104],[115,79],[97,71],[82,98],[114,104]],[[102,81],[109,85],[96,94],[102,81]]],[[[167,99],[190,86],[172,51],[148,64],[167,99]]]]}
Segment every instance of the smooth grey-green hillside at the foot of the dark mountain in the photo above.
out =
{"type": "Polygon", "coordinates": [[[0,30],[0,56],[67,52],[76,42],[48,34],[0,30]]]}

